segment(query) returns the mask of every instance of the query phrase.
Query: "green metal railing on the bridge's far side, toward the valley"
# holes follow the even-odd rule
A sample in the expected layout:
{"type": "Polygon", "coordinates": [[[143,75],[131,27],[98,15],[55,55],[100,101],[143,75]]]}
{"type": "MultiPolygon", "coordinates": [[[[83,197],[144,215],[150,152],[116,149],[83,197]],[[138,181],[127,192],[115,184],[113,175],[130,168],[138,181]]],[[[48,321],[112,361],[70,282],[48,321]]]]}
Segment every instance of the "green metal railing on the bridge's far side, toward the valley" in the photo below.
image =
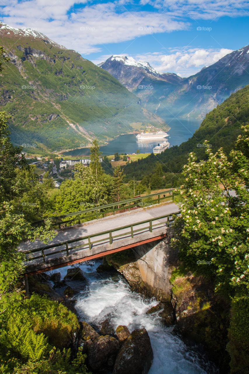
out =
{"type": "Polygon", "coordinates": [[[172,198],[173,189],[165,190],[160,193],[152,193],[146,196],[133,197],[133,199],[122,200],[119,202],[95,206],[94,208],[84,209],[73,213],[63,214],[55,217],[44,218],[43,220],[33,222],[34,225],[44,224],[45,219],[51,221],[51,226],[73,226],[82,222],[89,221],[89,218],[98,219],[106,215],[115,214],[117,211],[130,211],[135,208],[142,208],[152,204],[159,204],[162,200],[170,200],[172,198]],[[70,218],[67,220],[67,218],[70,218]]]}

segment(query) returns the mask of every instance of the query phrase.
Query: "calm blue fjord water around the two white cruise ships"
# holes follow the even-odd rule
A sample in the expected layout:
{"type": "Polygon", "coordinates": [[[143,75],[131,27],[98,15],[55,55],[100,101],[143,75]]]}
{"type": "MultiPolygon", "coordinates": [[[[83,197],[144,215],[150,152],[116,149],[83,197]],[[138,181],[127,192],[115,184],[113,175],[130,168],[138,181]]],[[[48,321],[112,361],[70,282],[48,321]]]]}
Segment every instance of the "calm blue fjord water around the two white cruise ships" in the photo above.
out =
{"type": "MultiPolygon", "coordinates": [[[[191,119],[191,118],[176,118],[167,117],[164,119],[170,126],[170,130],[167,131],[169,137],[166,139],[170,146],[179,145],[188,138],[191,138],[194,132],[199,128],[202,123],[202,119],[191,119]]],[[[120,135],[114,140],[108,142],[107,145],[100,147],[100,151],[105,154],[119,153],[135,153],[137,149],[141,153],[152,153],[153,147],[158,142],[163,142],[164,139],[153,139],[153,140],[137,140],[135,134],[120,135]]],[[[89,148],[81,148],[73,151],[64,152],[65,156],[88,156],[90,154],[89,148]]]]}

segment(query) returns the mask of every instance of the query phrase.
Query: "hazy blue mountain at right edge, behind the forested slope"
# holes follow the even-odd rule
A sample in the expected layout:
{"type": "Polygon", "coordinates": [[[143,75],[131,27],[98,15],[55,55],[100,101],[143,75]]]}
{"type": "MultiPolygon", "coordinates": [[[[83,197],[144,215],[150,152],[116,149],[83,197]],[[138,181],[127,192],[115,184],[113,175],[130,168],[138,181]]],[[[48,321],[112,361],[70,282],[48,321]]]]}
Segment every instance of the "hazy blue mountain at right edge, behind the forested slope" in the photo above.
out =
{"type": "Polygon", "coordinates": [[[205,117],[206,113],[246,85],[249,85],[249,45],[182,79],[179,86],[162,100],[157,114],[205,117]]]}

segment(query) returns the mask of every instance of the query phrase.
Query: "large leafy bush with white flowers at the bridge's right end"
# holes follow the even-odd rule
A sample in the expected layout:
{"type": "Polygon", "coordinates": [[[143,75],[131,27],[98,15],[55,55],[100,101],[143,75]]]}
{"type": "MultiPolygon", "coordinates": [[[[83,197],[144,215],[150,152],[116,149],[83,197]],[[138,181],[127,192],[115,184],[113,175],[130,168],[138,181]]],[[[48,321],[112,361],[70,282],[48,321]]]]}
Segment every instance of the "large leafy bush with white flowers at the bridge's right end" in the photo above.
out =
{"type": "Polygon", "coordinates": [[[214,279],[215,289],[248,288],[249,276],[249,126],[238,138],[239,150],[225,156],[210,148],[205,162],[190,153],[185,186],[175,190],[181,216],[172,245],[192,272],[214,279]]]}

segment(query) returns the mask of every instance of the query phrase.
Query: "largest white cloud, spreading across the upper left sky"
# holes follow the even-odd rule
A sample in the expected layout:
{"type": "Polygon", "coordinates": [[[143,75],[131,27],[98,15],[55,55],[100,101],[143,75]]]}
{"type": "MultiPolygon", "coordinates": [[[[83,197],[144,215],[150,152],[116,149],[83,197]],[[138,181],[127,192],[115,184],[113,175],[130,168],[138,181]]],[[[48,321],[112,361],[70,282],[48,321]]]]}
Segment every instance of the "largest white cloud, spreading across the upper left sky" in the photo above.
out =
{"type": "Polygon", "coordinates": [[[86,4],[81,0],[10,0],[2,8],[3,22],[12,27],[35,27],[50,39],[84,54],[101,50],[101,45],[133,40],[147,34],[184,30],[187,22],[170,14],[129,11],[120,2],[86,4]],[[119,7],[119,8],[118,8],[119,7]]]}

